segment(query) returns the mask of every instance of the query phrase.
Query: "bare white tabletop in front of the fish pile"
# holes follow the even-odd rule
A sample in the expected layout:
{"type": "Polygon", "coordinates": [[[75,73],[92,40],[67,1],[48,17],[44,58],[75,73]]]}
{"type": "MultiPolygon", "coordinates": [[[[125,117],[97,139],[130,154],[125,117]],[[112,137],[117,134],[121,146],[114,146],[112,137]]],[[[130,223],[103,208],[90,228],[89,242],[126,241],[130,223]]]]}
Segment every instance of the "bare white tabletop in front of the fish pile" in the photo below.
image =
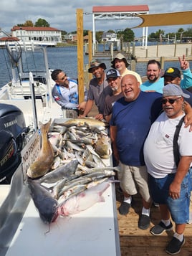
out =
{"type": "Polygon", "coordinates": [[[48,225],[39,218],[31,200],[6,256],[22,252],[27,256],[120,255],[112,186],[103,194],[105,202],[72,217],[59,217],[48,233],[48,225]]]}

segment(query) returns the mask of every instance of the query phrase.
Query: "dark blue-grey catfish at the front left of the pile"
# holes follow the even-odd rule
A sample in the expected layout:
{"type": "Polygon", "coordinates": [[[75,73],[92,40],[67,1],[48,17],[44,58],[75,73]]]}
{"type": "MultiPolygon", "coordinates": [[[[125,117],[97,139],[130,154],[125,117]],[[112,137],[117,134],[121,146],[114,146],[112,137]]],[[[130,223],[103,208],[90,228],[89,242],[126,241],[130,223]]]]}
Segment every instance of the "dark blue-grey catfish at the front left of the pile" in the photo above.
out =
{"type": "Polygon", "coordinates": [[[30,193],[39,212],[39,217],[45,224],[54,222],[58,217],[57,209],[59,202],[52,197],[52,194],[33,179],[27,180],[30,193]]]}

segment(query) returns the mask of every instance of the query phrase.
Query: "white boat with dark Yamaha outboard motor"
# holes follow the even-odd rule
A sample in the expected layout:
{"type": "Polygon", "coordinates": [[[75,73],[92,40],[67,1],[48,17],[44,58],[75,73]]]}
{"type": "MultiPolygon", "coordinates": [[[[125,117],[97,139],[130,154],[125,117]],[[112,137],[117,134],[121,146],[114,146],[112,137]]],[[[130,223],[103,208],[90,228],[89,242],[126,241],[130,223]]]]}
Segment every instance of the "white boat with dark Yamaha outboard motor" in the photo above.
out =
{"type": "Polygon", "coordinates": [[[54,81],[46,47],[6,41],[11,80],[0,88],[0,184],[10,183],[21,162],[21,150],[38,130],[39,121],[62,117],[52,99],[54,81]]]}

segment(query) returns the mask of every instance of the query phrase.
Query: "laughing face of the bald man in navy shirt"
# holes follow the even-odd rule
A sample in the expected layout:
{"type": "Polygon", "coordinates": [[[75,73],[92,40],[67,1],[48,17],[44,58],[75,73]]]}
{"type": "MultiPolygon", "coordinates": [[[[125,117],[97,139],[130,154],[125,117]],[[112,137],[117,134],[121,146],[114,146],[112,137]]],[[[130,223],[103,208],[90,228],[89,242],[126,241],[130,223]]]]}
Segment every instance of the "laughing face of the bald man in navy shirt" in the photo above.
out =
{"type": "Polygon", "coordinates": [[[133,101],[140,94],[140,83],[134,75],[125,75],[122,78],[121,90],[125,96],[125,101],[133,101]]]}

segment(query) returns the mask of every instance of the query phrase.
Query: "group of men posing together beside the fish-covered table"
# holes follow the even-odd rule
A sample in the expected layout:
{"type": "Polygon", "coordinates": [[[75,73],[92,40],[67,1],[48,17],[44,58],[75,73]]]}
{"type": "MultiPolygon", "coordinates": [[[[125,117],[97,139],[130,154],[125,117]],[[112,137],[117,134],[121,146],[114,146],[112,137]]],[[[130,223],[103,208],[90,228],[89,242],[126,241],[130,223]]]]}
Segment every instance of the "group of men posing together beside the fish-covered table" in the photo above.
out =
{"type": "MultiPolygon", "coordinates": [[[[148,81],[142,83],[138,73],[128,70],[129,63],[123,54],[115,56],[107,72],[105,63],[92,60],[88,72],[93,78],[87,95],[85,93],[87,99],[85,96],[85,102],[73,103],[73,107],[84,110],[80,117],[86,117],[95,102],[98,108],[95,118],[105,119],[110,124],[112,152],[120,165],[118,178],[124,194],[118,209],[120,214],[128,214],[132,197],[139,191],[143,200],[138,222],[140,229],[150,227],[152,202],[159,204],[161,220],[150,229],[151,234],[160,235],[173,229],[171,218],[176,223],[176,232],[166,247],[171,255],[180,252],[185,242],[183,232],[189,219],[192,188],[192,133],[186,128],[192,123],[192,97],[186,90],[192,86],[192,75],[185,57],[179,61],[183,79],[177,68],[169,67],[162,74],[160,63],[150,60],[146,73],[148,81]],[[184,116],[185,123],[181,122],[178,131],[176,127],[184,116]]],[[[53,74],[57,88],[60,80],[53,74]]],[[[62,77],[67,80],[66,74],[62,77]]],[[[59,103],[57,98],[61,97],[58,88],[55,94],[56,88],[52,95],[59,103]]]]}

